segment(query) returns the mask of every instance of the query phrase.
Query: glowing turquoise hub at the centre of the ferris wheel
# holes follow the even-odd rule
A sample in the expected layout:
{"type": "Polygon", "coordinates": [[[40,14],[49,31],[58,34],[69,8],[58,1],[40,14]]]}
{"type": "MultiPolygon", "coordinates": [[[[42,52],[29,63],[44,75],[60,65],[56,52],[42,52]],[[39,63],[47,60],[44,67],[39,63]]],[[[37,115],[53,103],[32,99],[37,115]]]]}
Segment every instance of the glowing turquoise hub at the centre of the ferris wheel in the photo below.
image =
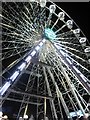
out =
{"type": "Polygon", "coordinates": [[[45,28],[44,37],[46,37],[46,39],[48,39],[48,40],[55,40],[56,34],[52,29],[45,28]]]}

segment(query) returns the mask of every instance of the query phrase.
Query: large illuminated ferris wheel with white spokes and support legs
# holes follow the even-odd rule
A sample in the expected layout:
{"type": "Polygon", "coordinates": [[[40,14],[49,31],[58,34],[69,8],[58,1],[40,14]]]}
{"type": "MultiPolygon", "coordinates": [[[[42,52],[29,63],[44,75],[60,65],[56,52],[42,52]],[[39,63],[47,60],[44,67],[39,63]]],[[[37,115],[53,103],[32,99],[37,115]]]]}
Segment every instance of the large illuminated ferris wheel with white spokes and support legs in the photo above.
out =
{"type": "Polygon", "coordinates": [[[0,105],[19,102],[17,120],[31,104],[36,120],[90,115],[90,47],[74,20],[50,0],[3,2],[0,17],[0,105]]]}

